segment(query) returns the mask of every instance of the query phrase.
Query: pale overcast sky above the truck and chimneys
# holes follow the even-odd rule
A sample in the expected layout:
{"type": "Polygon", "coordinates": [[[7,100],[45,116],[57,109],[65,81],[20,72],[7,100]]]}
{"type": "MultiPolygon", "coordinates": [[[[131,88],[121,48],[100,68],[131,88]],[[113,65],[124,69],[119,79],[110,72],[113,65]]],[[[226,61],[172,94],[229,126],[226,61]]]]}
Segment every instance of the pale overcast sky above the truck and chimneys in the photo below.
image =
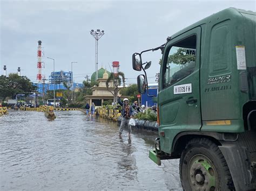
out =
{"type": "MultiPolygon", "coordinates": [[[[53,71],[71,71],[77,83],[95,72],[95,39],[90,30],[104,30],[98,41],[98,69],[112,70],[119,61],[126,83],[136,83],[132,54],[162,45],[166,37],[198,20],[226,8],[256,12],[254,1],[12,1],[0,0],[0,75],[28,76],[37,82],[37,47],[42,41],[43,74],[48,79],[53,71]]],[[[152,61],[147,69],[149,83],[155,83],[160,51],[143,55],[152,61]]]]}

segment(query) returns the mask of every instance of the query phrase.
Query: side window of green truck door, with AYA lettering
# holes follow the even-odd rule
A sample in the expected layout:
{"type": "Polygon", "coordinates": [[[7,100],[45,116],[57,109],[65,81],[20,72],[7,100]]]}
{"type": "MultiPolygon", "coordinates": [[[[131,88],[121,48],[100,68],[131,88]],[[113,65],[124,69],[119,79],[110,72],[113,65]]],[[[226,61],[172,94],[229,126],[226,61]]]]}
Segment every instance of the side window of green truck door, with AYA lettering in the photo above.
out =
{"type": "Polygon", "coordinates": [[[196,35],[180,40],[164,58],[163,86],[167,87],[190,75],[196,66],[196,35]]]}

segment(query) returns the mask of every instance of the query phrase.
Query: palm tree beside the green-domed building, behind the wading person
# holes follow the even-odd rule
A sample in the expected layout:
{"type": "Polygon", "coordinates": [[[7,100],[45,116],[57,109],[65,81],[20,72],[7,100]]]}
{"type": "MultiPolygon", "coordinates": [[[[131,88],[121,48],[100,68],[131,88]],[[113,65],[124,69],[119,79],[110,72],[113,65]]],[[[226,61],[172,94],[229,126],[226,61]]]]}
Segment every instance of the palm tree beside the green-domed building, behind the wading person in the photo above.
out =
{"type": "Polygon", "coordinates": [[[125,78],[124,78],[124,73],[123,72],[118,72],[117,76],[114,76],[114,73],[111,73],[109,75],[109,78],[106,81],[107,90],[110,91],[111,94],[113,94],[113,96],[114,96],[114,100],[113,100],[114,104],[117,103],[117,94],[118,94],[118,91],[120,90],[120,88],[118,89],[118,86],[121,85],[121,78],[120,77],[122,77],[122,81],[123,81],[123,84],[124,84],[125,78]],[[109,87],[109,82],[112,81],[112,80],[114,81],[114,86],[109,87]],[[111,90],[110,88],[113,88],[113,90],[111,90]]]}

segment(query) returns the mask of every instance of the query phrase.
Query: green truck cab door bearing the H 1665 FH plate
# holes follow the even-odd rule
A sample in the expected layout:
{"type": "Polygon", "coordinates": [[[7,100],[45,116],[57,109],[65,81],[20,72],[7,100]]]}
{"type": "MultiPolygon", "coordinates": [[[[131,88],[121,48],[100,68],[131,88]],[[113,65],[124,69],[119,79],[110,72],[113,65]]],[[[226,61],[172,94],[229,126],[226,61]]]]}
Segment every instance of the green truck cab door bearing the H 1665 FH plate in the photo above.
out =
{"type": "Polygon", "coordinates": [[[172,140],[181,131],[199,131],[201,27],[167,43],[161,63],[158,107],[161,150],[171,153],[172,140]]]}

